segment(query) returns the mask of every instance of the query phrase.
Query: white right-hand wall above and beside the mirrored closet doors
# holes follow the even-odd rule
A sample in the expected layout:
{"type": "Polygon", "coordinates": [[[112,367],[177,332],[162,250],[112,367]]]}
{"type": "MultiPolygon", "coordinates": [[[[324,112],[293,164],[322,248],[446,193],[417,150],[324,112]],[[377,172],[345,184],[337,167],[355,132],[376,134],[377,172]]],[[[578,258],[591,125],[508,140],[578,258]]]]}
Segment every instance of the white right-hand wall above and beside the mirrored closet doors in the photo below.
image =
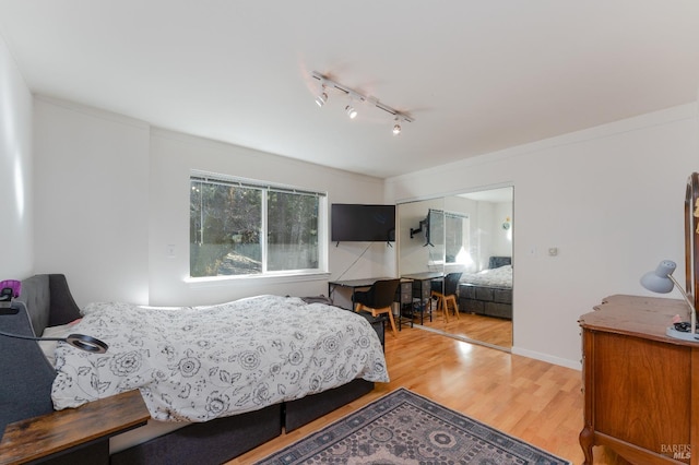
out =
{"type": "Polygon", "coordinates": [[[513,351],[579,367],[578,318],[608,295],[648,295],[643,272],[682,262],[698,139],[697,105],[685,105],[391,178],[386,193],[400,201],[513,184],[513,351]]]}

